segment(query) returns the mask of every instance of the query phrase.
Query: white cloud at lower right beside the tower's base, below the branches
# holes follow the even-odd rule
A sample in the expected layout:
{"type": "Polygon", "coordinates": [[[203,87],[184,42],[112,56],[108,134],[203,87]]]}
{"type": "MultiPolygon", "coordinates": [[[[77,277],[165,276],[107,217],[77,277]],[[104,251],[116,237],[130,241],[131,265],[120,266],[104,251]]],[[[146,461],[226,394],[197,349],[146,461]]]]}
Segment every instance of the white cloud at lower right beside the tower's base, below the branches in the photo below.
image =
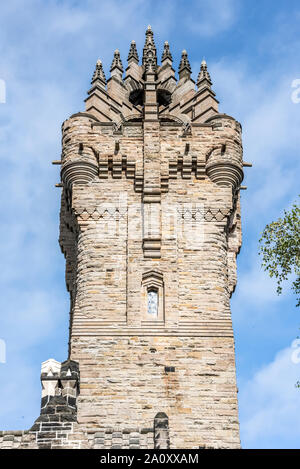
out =
{"type": "Polygon", "coordinates": [[[277,353],[274,360],[240,387],[241,438],[245,448],[300,447],[300,365],[295,349],[277,353]]]}

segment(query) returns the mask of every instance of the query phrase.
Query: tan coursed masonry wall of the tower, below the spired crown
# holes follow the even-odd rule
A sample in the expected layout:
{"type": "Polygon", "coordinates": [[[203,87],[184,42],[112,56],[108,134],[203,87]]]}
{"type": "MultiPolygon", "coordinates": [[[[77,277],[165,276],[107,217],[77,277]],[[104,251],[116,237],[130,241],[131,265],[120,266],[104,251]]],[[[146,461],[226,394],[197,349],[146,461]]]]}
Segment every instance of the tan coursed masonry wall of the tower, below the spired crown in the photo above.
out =
{"type": "MultiPolygon", "coordinates": [[[[88,117],[71,119],[68,135],[72,122],[81,119],[88,117]]],[[[124,126],[118,135],[118,160],[124,162],[118,177],[112,127],[97,126],[94,134],[91,119],[88,137],[80,134],[83,148],[88,142],[99,152],[100,168],[105,148],[111,152],[104,155],[110,161],[105,174],[72,189],[78,237],[70,353],[80,364],[78,423],[83,431],[103,422],[113,429],[151,428],[155,415],[165,412],[171,447],[239,446],[229,306],[235,270],[228,255],[230,216],[239,214],[231,186],[214,183],[205,170],[222,159],[241,165],[240,128],[227,117],[216,123],[192,126],[184,138],[180,125],[161,127],[161,171],[168,190],[161,197],[160,259],[143,256],[141,195],[126,174],[125,161],[142,164],[140,126],[130,125],[130,135],[124,126]],[[187,142],[190,164],[184,163],[187,142]],[[202,238],[193,246],[178,223],[197,208],[200,220],[193,228],[202,230],[202,238]],[[142,278],[156,270],[163,274],[164,317],[149,322],[142,278]]],[[[70,142],[79,138],[75,128],[70,142]]]]}

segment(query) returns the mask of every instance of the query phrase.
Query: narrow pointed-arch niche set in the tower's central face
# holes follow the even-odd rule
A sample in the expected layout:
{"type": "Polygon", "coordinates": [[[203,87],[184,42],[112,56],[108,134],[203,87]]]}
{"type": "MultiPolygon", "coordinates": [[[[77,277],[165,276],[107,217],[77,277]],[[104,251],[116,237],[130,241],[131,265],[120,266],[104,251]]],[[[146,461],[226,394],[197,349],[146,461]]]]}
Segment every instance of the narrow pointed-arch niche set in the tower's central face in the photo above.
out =
{"type": "Polygon", "coordinates": [[[150,270],[142,277],[142,321],[164,322],[164,281],[161,272],[150,270]]]}

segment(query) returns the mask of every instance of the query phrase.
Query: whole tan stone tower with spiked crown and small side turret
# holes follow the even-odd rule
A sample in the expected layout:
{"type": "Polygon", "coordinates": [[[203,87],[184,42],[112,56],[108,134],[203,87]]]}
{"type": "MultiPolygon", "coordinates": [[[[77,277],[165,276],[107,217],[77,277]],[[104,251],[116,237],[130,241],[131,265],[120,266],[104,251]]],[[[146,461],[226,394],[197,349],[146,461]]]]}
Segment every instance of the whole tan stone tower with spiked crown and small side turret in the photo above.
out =
{"type": "Polygon", "coordinates": [[[62,126],[69,358],[43,363],[41,416],[18,445],[238,448],[241,126],[205,61],[195,83],[183,51],[177,79],[165,42],[158,65],[150,26],[123,75],[118,50],[108,80],[98,60],[62,126]]]}

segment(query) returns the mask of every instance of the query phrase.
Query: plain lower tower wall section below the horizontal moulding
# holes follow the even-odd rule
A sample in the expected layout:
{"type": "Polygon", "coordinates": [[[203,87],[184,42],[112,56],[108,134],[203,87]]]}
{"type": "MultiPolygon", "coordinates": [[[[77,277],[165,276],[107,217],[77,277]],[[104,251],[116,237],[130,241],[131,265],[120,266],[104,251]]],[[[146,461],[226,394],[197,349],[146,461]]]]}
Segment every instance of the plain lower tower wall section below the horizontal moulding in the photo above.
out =
{"type": "Polygon", "coordinates": [[[232,337],[74,337],[72,359],[85,431],[141,431],[163,412],[170,448],[240,447],[232,337]]]}

